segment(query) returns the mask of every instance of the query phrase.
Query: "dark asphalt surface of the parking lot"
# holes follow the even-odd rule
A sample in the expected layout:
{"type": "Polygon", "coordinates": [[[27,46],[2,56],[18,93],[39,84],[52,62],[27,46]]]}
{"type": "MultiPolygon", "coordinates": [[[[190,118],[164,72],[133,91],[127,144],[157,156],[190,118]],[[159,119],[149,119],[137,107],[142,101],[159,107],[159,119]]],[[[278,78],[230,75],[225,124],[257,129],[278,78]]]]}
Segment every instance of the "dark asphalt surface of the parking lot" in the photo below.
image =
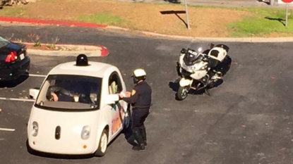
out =
{"type": "MultiPolygon", "coordinates": [[[[146,151],[133,152],[121,134],[103,158],[33,156],[25,148],[32,102],[0,100],[0,127],[14,130],[0,130],[1,163],[293,163],[292,44],[225,43],[233,63],[225,82],[210,91],[212,96],[189,95],[176,101],[175,65],[179,51],[189,42],[108,37],[112,39],[87,37],[110,51],[107,57],[90,60],[119,67],[128,89],[132,87],[131,71],[143,66],[153,87],[146,151]]],[[[75,60],[74,56],[30,57],[31,76],[15,87],[1,84],[0,97],[25,99],[28,89],[42,83],[43,77],[36,75],[46,75],[58,63],[75,60]]]]}

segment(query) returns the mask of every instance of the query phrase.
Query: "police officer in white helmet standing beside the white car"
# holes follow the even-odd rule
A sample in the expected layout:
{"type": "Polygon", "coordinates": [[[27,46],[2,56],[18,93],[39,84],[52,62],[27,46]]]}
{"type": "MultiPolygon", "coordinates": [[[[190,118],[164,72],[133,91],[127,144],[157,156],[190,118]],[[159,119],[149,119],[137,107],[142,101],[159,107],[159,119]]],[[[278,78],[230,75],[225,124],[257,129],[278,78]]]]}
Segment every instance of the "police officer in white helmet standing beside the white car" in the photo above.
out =
{"type": "Polygon", "coordinates": [[[133,146],[133,150],[141,151],[147,145],[145,119],[150,113],[150,106],[152,101],[152,89],[147,82],[145,82],[146,73],[143,69],[136,69],[133,71],[133,83],[136,84],[131,92],[126,92],[126,95],[119,94],[120,98],[131,103],[132,105],[132,125],[133,137],[138,142],[137,146],[133,146]]]}

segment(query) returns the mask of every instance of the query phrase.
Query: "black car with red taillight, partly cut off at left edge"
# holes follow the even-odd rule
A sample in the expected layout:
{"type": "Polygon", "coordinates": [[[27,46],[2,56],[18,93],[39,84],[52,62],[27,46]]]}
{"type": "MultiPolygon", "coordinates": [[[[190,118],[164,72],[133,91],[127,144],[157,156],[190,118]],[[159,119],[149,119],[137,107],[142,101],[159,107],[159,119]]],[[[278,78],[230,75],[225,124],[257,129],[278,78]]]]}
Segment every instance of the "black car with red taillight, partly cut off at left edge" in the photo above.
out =
{"type": "Polygon", "coordinates": [[[0,37],[0,81],[15,80],[30,70],[30,57],[25,44],[0,37]]]}

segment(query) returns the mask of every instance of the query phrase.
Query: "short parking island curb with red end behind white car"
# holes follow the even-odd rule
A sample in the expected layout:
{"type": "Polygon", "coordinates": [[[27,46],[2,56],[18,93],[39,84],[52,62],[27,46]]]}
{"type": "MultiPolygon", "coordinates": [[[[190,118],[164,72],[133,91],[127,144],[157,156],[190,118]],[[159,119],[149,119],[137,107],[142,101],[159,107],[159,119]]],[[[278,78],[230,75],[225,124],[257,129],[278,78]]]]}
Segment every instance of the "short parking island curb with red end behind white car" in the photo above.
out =
{"type": "MultiPolygon", "coordinates": [[[[30,44],[32,43],[23,43],[30,44]]],[[[78,56],[83,53],[88,57],[104,57],[109,55],[109,50],[105,46],[87,46],[87,45],[75,45],[75,44],[55,44],[56,46],[64,47],[65,49],[76,49],[73,51],[68,50],[40,50],[40,49],[27,49],[31,55],[40,56],[78,56]]]]}

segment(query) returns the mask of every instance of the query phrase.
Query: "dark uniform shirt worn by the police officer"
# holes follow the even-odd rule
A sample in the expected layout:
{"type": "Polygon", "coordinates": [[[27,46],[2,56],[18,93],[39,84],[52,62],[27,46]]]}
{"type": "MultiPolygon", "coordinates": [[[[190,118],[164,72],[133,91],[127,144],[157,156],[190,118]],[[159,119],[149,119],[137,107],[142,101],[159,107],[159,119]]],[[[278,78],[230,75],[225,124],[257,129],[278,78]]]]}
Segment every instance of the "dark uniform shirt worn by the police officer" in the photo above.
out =
{"type": "Polygon", "coordinates": [[[130,97],[124,97],[124,101],[131,103],[133,109],[136,108],[150,108],[152,103],[152,89],[147,82],[142,81],[136,84],[131,90],[130,97]]]}

